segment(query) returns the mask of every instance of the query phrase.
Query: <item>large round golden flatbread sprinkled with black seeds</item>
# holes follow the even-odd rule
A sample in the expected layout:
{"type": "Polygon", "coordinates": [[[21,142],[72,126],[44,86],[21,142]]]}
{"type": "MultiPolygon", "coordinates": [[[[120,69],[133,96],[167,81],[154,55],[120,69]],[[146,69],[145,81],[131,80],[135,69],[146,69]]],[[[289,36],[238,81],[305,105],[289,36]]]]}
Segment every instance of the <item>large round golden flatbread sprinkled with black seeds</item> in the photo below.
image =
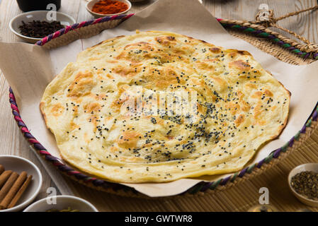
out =
{"type": "Polygon", "coordinates": [[[40,109],[70,165],[140,183],[242,169],[283,130],[289,102],[249,52],[149,31],[81,52],[40,109]]]}

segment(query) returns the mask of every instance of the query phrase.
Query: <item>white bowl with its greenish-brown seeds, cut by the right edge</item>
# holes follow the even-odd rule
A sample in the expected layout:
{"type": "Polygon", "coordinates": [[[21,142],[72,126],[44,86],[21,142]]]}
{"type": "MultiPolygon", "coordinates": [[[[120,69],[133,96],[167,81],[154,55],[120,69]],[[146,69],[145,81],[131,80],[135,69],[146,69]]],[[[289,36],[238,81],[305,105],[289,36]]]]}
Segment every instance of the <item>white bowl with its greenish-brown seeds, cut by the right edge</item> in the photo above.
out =
{"type": "Polygon", "coordinates": [[[290,190],[307,206],[318,206],[318,163],[306,163],[288,175],[290,190]]]}

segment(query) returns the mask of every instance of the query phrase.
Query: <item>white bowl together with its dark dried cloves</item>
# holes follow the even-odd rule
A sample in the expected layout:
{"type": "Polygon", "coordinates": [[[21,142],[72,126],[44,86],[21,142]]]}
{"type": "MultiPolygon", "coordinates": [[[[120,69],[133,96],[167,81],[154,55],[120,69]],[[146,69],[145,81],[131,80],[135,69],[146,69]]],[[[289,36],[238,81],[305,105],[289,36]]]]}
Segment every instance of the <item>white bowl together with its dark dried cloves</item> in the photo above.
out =
{"type": "Polygon", "coordinates": [[[56,11],[30,11],[11,19],[10,30],[25,42],[35,43],[57,30],[76,23],[74,18],[56,11]]]}

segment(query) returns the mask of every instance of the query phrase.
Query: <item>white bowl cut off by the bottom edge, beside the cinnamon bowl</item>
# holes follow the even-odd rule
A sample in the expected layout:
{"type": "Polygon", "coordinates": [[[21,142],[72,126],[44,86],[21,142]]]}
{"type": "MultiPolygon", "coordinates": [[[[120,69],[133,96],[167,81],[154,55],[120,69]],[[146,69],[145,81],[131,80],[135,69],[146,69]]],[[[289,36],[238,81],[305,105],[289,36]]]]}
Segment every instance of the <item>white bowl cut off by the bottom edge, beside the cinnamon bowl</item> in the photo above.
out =
{"type": "Polygon", "coordinates": [[[79,212],[98,212],[96,207],[91,203],[76,196],[49,196],[42,198],[28,206],[28,208],[25,208],[23,212],[46,212],[50,209],[64,210],[69,207],[72,208],[72,210],[79,210],[79,212]],[[49,204],[52,203],[54,198],[56,198],[56,203],[49,204]]]}

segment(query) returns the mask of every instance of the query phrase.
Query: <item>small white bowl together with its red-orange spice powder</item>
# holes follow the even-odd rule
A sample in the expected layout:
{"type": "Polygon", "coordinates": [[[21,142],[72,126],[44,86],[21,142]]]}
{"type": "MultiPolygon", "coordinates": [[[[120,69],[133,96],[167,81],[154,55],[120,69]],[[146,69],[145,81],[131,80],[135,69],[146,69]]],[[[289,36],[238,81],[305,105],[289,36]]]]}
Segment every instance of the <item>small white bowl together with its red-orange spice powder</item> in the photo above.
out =
{"type": "Polygon", "coordinates": [[[131,7],[127,0],[91,0],[86,4],[87,11],[96,18],[127,13],[131,7]]]}

